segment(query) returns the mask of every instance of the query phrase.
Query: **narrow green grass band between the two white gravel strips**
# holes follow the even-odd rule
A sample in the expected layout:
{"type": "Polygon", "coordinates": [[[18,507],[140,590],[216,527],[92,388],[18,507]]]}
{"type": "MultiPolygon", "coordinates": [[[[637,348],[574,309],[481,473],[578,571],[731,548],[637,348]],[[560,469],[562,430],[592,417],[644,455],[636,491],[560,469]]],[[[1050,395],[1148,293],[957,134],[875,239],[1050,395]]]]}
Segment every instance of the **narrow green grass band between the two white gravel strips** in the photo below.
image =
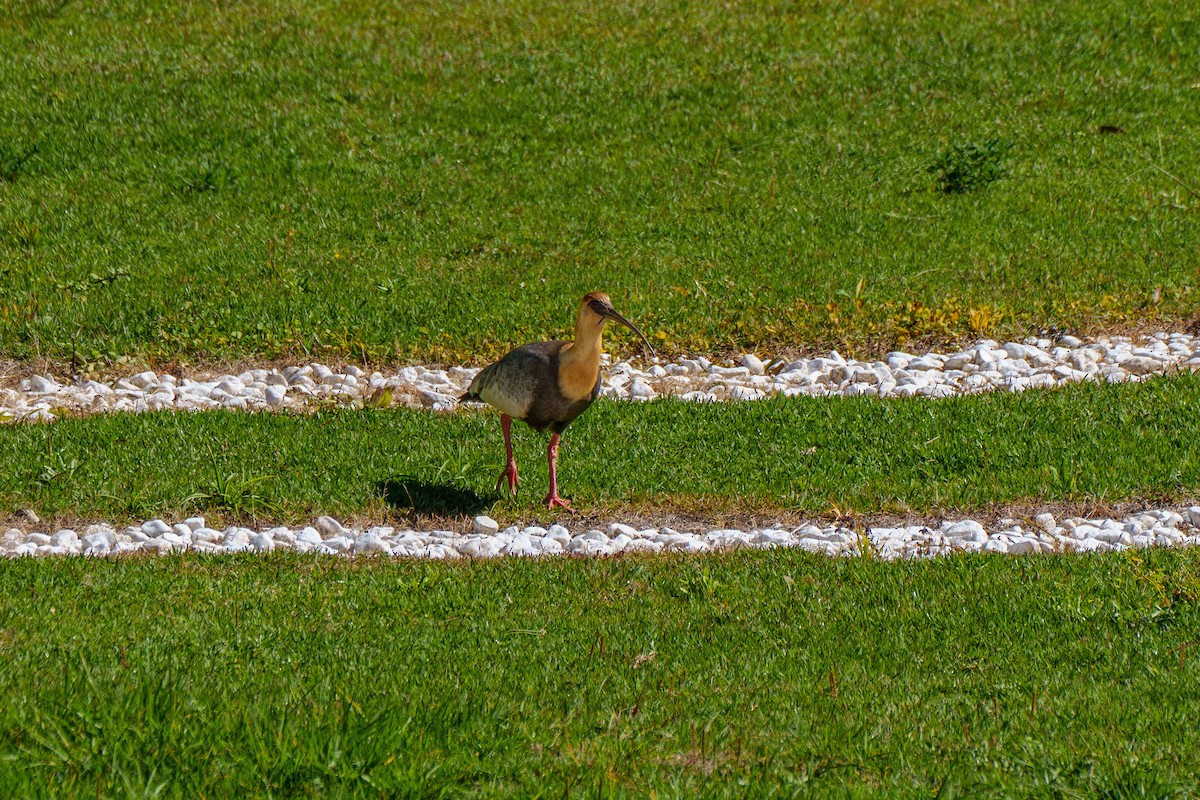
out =
{"type": "MultiPolygon", "coordinates": [[[[994,503],[1200,497],[1200,375],[938,402],[601,401],[566,432],[559,486],[587,512],[917,512],[994,503]]],[[[522,495],[492,487],[494,414],[160,413],[0,428],[0,505],[144,519],[193,510],[305,521],[392,513],[403,481],[451,511],[547,517],[547,437],[515,426],[522,495]]],[[[400,516],[402,509],[395,511],[400,516]]]]}

